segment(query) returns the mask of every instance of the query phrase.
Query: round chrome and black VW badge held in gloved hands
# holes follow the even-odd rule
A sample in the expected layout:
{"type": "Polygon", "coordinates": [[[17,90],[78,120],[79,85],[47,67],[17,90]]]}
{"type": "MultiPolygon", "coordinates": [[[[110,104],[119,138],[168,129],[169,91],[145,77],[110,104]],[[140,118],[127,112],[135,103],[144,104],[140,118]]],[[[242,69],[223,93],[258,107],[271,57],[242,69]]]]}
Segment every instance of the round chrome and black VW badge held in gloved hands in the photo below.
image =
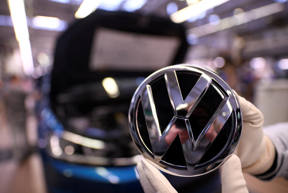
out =
{"type": "Polygon", "coordinates": [[[214,72],[174,65],[147,77],[129,109],[141,154],[166,173],[197,176],[218,168],[239,140],[242,115],[232,89],[214,72]]]}

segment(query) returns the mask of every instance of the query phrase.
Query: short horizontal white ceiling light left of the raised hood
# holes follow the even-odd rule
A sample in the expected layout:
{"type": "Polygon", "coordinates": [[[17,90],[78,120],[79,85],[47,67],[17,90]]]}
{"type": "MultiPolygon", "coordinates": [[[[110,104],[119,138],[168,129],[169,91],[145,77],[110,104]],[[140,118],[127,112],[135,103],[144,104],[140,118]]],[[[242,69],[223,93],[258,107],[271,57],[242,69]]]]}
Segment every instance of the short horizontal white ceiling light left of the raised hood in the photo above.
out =
{"type": "Polygon", "coordinates": [[[32,19],[32,26],[35,29],[47,29],[63,31],[67,28],[67,22],[57,17],[35,16],[32,19]]]}

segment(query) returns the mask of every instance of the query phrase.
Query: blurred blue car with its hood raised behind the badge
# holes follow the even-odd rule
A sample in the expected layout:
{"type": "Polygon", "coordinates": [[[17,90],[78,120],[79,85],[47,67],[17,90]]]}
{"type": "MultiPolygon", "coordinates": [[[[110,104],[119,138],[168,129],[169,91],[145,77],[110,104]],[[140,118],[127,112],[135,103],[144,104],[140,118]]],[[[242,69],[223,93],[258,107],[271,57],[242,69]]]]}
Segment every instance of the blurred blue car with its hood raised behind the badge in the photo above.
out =
{"type": "Polygon", "coordinates": [[[131,98],[149,74],[181,63],[187,47],[184,27],[169,19],[102,10],[58,38],[36,105],[49,192],[143,191],[131,98]]]}

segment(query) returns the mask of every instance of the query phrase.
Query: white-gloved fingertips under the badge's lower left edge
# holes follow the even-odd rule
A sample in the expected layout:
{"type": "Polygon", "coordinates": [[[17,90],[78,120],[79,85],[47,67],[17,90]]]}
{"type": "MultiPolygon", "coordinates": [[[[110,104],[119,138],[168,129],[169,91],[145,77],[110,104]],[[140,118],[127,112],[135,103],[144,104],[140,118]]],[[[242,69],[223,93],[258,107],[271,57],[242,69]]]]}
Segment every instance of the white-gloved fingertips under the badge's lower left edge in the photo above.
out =
{"type": "Polygon", "coordinates": [[[177,192],[165,176],[145,158],[141,159],[141,164],[137,164],[137,171],[140,176],[140,183],[145,193],[177,192]]]}

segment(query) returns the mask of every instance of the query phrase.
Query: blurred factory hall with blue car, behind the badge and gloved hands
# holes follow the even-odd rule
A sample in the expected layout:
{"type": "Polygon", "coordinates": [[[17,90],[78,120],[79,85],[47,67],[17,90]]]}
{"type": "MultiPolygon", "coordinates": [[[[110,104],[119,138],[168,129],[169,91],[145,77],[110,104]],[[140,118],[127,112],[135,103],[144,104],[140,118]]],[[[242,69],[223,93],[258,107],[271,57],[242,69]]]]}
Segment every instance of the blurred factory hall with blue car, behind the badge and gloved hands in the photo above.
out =
{"type": "Polygon", "coordinates": [[[264,125],[287,122],[288,2],[0,1],[0,192],[141,191],[129,104],[179,63],[217,71],[264,125]]]}

